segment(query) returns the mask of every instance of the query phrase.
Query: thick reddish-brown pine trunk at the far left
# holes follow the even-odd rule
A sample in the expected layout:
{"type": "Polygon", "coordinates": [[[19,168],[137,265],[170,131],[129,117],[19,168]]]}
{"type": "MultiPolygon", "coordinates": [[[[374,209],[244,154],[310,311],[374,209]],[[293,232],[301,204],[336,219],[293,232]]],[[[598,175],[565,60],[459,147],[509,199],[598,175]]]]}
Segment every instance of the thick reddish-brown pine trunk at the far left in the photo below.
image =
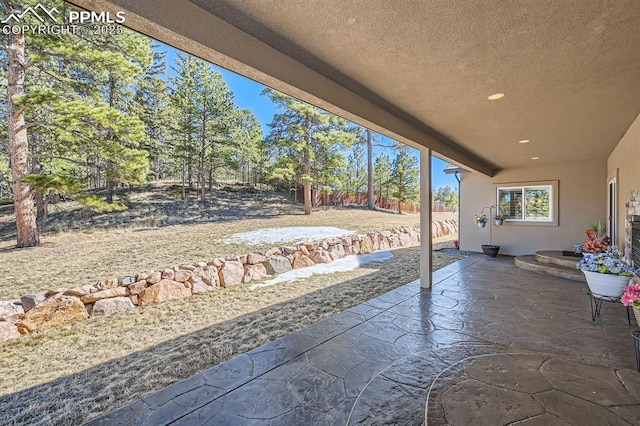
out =
{"type": "MultiPolygon", "coordinates": [[[[3,2],[3,4],[5,4],[3,2]]],[[[24,120],[24,111],[15,104],[15,97],[25,95],[25,44],[24,35],[10,33],[9,69],[7,73],[7,116],[9,152],[11,153],[11,177],[13,206],[16,217],[17,247],[33,247],[40,244],[36,209],[31,188],[22,182],[29,173],[29,141],[24,120]]]]}

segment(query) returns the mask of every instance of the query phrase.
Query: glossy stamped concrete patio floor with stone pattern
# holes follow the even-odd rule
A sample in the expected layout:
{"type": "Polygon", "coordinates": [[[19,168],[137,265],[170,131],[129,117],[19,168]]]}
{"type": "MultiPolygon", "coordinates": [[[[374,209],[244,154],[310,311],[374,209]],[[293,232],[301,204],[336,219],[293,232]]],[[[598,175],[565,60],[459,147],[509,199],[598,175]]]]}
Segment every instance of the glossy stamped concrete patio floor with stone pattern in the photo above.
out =
{"type": "Polygon", "coordinates": [[[472,256],[92,424],[640,424],[625,308],[472,256]],[[425,409],[426,407],[426,409],[425,409]],[[426,418],[425,418],[426,416],[426,418]]]}

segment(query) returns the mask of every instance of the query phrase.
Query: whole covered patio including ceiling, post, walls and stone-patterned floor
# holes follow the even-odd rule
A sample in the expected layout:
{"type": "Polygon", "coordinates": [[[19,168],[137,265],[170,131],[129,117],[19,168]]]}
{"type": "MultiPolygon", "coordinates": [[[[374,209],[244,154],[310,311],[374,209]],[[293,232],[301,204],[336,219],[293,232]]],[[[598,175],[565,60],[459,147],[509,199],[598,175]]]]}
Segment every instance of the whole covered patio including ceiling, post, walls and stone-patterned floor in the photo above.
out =
{"type": "Polygon", "coordinates": [[[419,281],[93,424],[640,423],[624,307],[592,321],[585,284],[507,257],[432,272],[427,208],[436,152],[472,172],[461,249],[567,250],[605,218],[631,260],[640,3],[71,3],[124,10],[132,29],[419,148],[422,167],[419,281]],[[473,224],[540,187],[544,220],[473,224]]]}

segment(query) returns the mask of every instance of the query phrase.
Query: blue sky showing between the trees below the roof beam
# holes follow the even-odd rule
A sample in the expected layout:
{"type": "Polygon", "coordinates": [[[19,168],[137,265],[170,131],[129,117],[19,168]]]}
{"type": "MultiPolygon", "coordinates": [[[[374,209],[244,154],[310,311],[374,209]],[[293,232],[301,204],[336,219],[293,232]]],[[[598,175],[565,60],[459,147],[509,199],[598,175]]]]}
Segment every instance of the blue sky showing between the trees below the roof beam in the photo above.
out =
{"type": "MultiPolygon", "coordinates": [[[[162,43],[158,44],[160,45],[158,50],[167,52],[167,74],[173,75],[174,72],[171,68],[175,66],[175,61],[180,51],[162,43]]],[[[239,108],[251,110],[260,121],[263,131],[267,134],[269,132],[269,123],[271,122],[276,109],[267,96],[261,95],[265,86],[219,66],[214,65],[213,67],[216,71],[222,74],[223,80],[233,92],[236,105],[239,108]]],[[[377,138],[383,144],[391,145],[391,139],[386,136],[377,134],[377,138]]],[[[387,151],[387,154],[389,155],[393,154],[391,149],[376,148],[374,149],[374,155],[378,155],[380,151],[387,151]]],[[[418,155],[417,150],[416,155],[418,155]]],[[[433,157],[431,161],[432,187],[438,188],[448,185],[457,189],[458,181],[455,177],[453,175],[445,175],[442,171],[446,165],[447,163],[445,161],[437,157],[433,157]]]]}

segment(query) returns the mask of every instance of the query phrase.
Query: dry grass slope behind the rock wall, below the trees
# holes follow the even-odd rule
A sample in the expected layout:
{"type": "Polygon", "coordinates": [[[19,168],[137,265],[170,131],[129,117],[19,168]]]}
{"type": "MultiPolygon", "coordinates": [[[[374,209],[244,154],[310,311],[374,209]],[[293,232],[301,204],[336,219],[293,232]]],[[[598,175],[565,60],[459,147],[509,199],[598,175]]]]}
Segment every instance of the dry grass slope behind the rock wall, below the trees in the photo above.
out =
{"type": "MultiPolygon", "coordinates": [[[[168,198],[166,191],[160,195],[168,198]]],[[[20,250],[13,248],[12,210],[0,207],[0,300],[269,248],[218,241],[239,232],[282,226],[335,226],[366,232],[420,221],[415,213],[364,208],[320,208],[305,216],[299,204],[277,194],[219,191],[204,206],[165,200],[149,192],[131,194],[129,200],[130,211],[89,217],[65,211],[68,206],[54,206],[48,228],[64,231],[46,233],[40,247],[20,250]]],[[[455,213],[434,213],[434,220],[456,217],[455,213]]]]}

